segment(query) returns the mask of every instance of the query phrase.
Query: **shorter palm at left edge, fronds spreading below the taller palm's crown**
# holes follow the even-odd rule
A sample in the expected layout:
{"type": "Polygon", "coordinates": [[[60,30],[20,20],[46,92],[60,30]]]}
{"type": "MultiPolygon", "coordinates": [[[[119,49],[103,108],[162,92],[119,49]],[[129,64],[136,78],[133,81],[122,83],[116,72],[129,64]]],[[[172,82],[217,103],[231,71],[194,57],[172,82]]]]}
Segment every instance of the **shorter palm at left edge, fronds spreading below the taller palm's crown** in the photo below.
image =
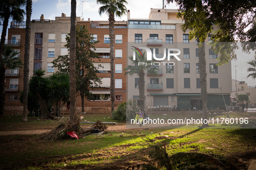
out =
{"type": "MultiPolygon", "coordinates": [[[[3,105],[3,107],[4,107],[4,98],[5,98],[5,94],[4,94],[5,70],[6,68],[9,68],[9,69],[22,68],[22,62],[20,58],[17,57],[18,54],[19,52],[17,50],[12,49],[11,46],[5,46],[3,50],[3,56],[0,57],[2,59],[2,62],[0,63],[0,88],[1,88],[1,91],[3,91],[3,94],[1,94],[1,97],[0,97],[0,102],[3,105]]],[[[0,113],[1,113],[0,116],[3,116],[3,111],[0,113]]]]}

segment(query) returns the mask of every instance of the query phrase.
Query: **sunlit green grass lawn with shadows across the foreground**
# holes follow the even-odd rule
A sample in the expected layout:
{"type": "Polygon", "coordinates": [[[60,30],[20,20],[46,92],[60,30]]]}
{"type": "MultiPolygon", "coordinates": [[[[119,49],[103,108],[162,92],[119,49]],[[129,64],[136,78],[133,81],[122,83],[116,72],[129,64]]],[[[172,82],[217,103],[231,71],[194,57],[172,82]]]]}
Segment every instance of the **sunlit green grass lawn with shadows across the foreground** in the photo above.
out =
{"type": "MultiPolygon", "coordinates": [[[[115,121],[107,114],[81,116],[83,121],[115,121]]],[[[0,130],[52,129],[58,125],[55,120],[28,118],[26,123],[19,122],[21,116],[16,115],[0,118],[0,130]]],[[[169,156],[204,153],[239,169],[245,169],[256,156],[256,129],[124,129],[110,134],[55,142],[38,139],[40,135],[0,136],[0,169],[136,168],[156,163],[149,152],[154,151],[152,145],[159,143],[166,146],[169,156]]],[[[183,167],[179,164],[176,168],[183,167]]]]}

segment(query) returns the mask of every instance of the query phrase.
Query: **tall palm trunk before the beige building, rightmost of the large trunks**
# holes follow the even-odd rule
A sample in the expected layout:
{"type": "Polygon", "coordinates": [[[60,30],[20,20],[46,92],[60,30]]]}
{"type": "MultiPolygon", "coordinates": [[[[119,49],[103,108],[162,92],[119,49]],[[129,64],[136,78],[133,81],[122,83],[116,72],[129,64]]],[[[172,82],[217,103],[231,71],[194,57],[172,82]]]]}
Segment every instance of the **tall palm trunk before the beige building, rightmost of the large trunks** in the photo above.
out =
{"type": "MultiPolygon", "coordinates": [[[[201,85],[201,98],[203,103],[203,119],[207,119],[207,73],[206,73],[206,60],[205,60],[205,43],[201,42],[198,46],[198,66],[199,66],[199,75],[200,75],[200,85],[201,85]]],[[[209,127],[206,123],[202,127],[209,127]]]]}

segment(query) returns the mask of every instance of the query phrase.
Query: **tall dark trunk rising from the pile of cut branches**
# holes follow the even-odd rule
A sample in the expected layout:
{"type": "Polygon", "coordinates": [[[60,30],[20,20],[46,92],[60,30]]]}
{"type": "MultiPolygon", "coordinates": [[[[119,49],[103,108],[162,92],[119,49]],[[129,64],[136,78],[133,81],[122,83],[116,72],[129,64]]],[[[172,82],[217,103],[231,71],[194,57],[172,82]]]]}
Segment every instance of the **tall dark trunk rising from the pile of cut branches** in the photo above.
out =
{"type": "Polygon", "coordinates": [[[76,113],[76,86],[75,86],[75,37],[76,37],[76,0],[71,0],[71,17],[70,17],[70,63],[69,63],[69,100],[70,114],[69,119],[72,123],[73,116],[76,113]]]}

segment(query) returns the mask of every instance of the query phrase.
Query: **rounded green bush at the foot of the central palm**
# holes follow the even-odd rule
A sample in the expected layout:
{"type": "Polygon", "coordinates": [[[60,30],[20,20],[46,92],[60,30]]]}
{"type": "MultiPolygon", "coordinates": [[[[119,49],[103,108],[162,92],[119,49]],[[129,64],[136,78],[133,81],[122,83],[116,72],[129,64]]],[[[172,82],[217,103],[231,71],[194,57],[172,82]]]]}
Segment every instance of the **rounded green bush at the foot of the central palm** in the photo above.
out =
{"type": "Polygon", "coordinates": [[[117,110],[112,112],[112,117],[114,120],[120,122],[129,121],[134,119],[136,116],[136,101],[129,100],[128,102],[124,101],[117,106],[117,110]]]}

